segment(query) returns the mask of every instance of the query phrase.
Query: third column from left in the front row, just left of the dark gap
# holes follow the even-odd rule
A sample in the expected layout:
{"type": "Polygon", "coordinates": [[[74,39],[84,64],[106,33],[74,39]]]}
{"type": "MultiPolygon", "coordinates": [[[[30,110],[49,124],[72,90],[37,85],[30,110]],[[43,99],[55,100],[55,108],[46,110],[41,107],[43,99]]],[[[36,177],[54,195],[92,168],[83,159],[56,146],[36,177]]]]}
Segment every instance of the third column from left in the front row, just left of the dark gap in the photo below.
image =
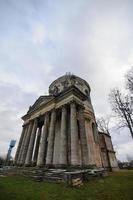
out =
{"type": "Polygon", "coordinates": [[[29,166],[31,164],[32,159],[32,153],[34,148],[34,142],[35,142],[35,136],[36,136],[36,130],[37,130],[37,119],[34,120],[33,129],[30,137],[30,142],[28,146],[28,151],[26,155],[25,165],[29,166]]]}

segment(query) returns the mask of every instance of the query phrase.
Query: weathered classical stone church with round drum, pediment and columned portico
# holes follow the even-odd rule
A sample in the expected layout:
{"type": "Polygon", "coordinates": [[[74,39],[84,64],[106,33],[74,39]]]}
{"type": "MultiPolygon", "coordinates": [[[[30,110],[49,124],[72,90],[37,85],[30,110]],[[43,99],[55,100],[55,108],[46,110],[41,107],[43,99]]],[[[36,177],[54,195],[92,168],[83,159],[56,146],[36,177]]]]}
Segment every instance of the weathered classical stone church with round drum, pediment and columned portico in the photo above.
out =
{"type": "Polygon", "coordinates": [[[22,117],[16,166],[117,166],[111,137],[97,129],[90,86],[66,74],[49,86],[22,117]]]}

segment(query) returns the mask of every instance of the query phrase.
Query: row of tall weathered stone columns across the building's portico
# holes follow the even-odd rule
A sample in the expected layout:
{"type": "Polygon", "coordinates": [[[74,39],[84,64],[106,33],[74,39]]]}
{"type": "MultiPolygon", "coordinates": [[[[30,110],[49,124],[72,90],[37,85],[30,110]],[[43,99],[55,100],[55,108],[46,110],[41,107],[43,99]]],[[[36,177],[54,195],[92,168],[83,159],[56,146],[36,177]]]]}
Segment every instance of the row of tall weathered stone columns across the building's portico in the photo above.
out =
{"type": "MultiPolygon", "coordinates": [[[[75,101],[68,105],[65,104],[60,108],[59,165],[88,165],[88,148],[83,109],[83,106],[78,105],[75,101]],[[68,118],[70,133],[68,133],[68,118]],[[68,134],[70,134],[70,144],[68,143],[68,134]],[[79,140],[81,158],[79,157],[79,140]],[[68,161],[68,148],[70,149],[70,161],[68,161]]],[[[37,118],[23,126],[16,151],[15,165],[37,165],[39,167],[53,165],[57,112],[56,109],[52,109],[44,114],[43,127],[38,125],[37,118]]]]}

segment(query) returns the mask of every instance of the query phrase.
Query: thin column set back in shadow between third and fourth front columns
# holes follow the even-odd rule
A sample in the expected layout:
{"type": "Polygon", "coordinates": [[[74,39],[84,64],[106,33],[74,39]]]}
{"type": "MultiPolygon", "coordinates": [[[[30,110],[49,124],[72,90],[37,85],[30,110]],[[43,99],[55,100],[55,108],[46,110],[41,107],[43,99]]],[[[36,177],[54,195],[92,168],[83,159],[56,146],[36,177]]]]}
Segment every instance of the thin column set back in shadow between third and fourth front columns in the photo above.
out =
{"type": "Polygon", "coordinates": [[[39,144],[40,144],[40,138],[41,138],[41,132],[42,132],[42,127],[39,127],[38,131],[37,131],[35,151],[34,151],[34,156],[33,156],[33,163],[34,164],[36,164],[36,162],[37,162],[38,150],[39,150],[39,144]]]}

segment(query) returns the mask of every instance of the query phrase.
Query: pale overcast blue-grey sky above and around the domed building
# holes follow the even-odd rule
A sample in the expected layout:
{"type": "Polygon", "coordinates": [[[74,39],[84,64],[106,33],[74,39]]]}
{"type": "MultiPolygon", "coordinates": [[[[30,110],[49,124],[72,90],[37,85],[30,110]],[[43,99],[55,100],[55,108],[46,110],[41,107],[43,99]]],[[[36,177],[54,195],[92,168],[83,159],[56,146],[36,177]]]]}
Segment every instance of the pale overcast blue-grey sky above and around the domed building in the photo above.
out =
{"type": "MultiPolygon", "coordinates": [[[[96,116],[110,113],[110,89],[124,87],[133,65],[132,10],[132,0],[0,0],[0,155],[18,142],[28,107],[66,72],[90,84],[96,116]]],[[[133,155],[128,130],[112,140],[118,159],[133,155]]]]}

